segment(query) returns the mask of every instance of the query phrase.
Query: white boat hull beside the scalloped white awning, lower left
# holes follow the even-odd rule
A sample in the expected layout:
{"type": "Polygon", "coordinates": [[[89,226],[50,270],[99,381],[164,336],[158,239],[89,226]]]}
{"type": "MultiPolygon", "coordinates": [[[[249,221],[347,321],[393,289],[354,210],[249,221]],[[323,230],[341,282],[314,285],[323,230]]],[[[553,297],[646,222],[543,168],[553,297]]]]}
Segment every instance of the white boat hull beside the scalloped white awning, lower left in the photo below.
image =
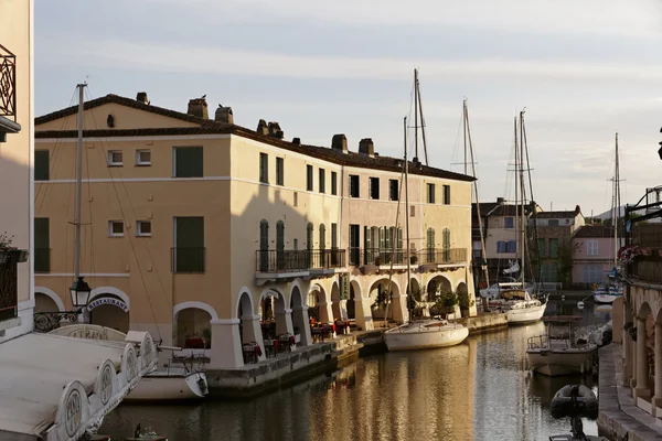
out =
{"type": "Polygon", "coordinates": [[[124,401],[174,401],[204,398],[207,394],[206,375],[189,373],[168,375],[157,370],[138,383],[124,401]]]}

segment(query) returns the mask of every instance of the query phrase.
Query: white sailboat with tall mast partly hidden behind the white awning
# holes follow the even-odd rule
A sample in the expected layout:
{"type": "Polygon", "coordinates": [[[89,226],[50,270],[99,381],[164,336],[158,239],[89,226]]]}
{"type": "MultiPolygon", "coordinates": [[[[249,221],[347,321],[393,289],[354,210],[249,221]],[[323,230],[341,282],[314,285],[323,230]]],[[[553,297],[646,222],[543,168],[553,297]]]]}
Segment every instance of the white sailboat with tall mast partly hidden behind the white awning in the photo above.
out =
{"type": "MultiPolygon", "coordinates": [[[[81,202],[82,202],[82,181],[83,181],[83,112],[84,112],[84,89],[86,83],[77,85],[78,88],[78,139],[76,150],[76,207],[75,207],[75,279],[81,276],[81,202]]],[[[87,313],[87,312],[85,312],[87,313]]],[[[87,323],[72,324],[68,326],[57,326],[49,332],[74,338],[108,340],[121,342],[140,342],[142,332],[129,331],[122,332],[87,323]]],[[[157,351],[164,349],[181,351],[179,347],[169,347],[157,344],[157,351]]],[[[180,361],[180,366],[157,367],[136,385],[134,390],[124,399],[125,401],[136,400],[182,400],[191,398],[203,398],[207,394],[206,374],[200,369],[192,369],[185,363],[180,361]]],[[[172,363],[171,363],[172,364],[172,363]]],[[[147,438],[149,439],[149,438],[147,438]]],[[[153,438],[154,440],[163,438],[153,438]]]]}

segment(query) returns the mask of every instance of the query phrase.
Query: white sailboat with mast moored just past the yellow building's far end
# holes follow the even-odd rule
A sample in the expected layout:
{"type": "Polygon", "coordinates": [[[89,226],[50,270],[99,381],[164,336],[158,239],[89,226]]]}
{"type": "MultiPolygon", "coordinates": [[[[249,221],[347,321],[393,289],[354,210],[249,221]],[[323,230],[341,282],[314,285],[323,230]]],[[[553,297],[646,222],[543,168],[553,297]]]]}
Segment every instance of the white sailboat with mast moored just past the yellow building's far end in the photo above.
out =
{"type": "MultiPolygon", "coordinates": [[[[504,273],[513,276],[520,272],[520,280],[515,283],[508,283],[505,289],[499,292],[499,298],[490,302],[491,309],[496,309],[506,314],[509,324],[526,324],[540,321],[547,308],[548,294],[544,294],[540,288],[541,284],[534,283],[533,292],[526,284],[527,268],[527,235],[526,235],[526,183],[524,180],[524,158],[528,161],[528,147],[526,146],[526,131],[524,129],[524,111],[520,112],[520,137],[517,142],[517,119],[514,121],[515,129],[515,205],[519,203],[517,224],[520,229],[515,236],[515,244],[521,263],[513,261],[510,268],[503,270],[504,273]]],[[[530,166],[526,163],[526,171],[530,166]]],[[[533,189],[530,182],[530,196],[533,201],[533,189]]],[[[535,209],[535,208],[534,208],[535,209]]]]}

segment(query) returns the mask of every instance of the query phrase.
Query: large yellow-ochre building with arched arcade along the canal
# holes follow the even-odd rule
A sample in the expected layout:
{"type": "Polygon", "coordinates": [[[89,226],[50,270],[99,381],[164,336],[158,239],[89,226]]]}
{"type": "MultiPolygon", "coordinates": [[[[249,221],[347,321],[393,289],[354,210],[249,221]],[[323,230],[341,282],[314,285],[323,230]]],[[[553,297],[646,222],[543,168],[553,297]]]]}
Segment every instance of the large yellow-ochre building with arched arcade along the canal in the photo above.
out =
{"type": "MultiPolygon", "coordinates": [[[[68,308],[76,116],[35,120],[39,311],[68,308]]],[[[200,336],[213,367],[236,367],[242,342],[264,347],[271,318],[276,334],[309,345],[309,316],[370,330],[392,293],[388,315],[406,321],[407,217],[415,297],[473,299],[470,176],[409,162],[407,212],[404,161],[370,139],[357,152],[343,135],[331,148],[289,142],[277,122],[254,131],[228,107],[210,119],[204,98],[183,114],[145,93],[86,103],[84,126],[92,323],[180,346],[200,336]]]]}

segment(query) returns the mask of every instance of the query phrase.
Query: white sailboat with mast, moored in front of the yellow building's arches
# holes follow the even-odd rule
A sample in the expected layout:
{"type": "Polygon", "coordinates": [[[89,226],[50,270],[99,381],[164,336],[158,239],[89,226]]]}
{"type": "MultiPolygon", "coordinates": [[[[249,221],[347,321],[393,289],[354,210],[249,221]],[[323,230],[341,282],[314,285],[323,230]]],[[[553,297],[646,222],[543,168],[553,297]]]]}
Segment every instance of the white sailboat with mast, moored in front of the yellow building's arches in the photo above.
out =
{"type": "MultiPolygon", "coordinates": [[[[417,103],[415,105],[416,111],[416,125],[418,128],[418,111],[420,111],[420,93],[418,89],[418,72],[414,71],[414,85],[415,92],[414,97],[417,103]]],[[[423,123],[423,111],[420,111],[420,120],[423,123]]],[[[425,125],[424,125],[425,126],[425,125]]],[[[408,192],[408,178],[409,178],[409,165],[407,155],[407,118],[404,119],[405,130],[405,213],[409,213],[409,192],[408,192]]],[[[425,133],[425,132],[424,132],[425,133]]],[[[416,135],[416,138],[418,136],[416,135]]],[[[416,141],[417,142],[417,141],[416,141]]],[[[425,135],[424,135],[425,142],[425,135]]],[[[425,150],[427,160],[427,149],[425,150]]],[[[406,244],[409,244],[409,216],[405,216],[405,235],[406,244]]],[[[407,258],[406,261],[410,262],[410,248],[407,246],[407,258]]],[[[410,289],[410,266],[407,265],[407,303],[412,299],[410,289]]],[[[409,318],[410,319],[410,318],[409,318]]],[[[384,333],[384,343],[388,351],[412,351],[412,349],[429,349],[436,347],[455,346],[460,344],[469,336],[469,329],[460,323],[451,323],[447,320],[441,319],[423,319],[423,320],[409,320],[397,327],[387,330],[384,333]]]]}

